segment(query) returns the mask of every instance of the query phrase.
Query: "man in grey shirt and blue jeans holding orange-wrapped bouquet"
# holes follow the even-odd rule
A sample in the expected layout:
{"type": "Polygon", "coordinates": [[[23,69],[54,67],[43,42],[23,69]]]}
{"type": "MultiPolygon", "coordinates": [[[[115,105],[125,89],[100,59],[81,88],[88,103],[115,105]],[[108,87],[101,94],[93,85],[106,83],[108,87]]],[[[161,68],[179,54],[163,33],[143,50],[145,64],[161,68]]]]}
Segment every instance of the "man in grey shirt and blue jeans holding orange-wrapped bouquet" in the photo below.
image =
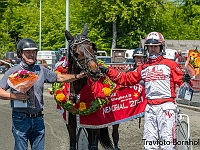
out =
{"type": "Polygon", "coordinates": [[[17,56],[21,62],[10,68],[0,80],[0,98],[11,100],[14,150],[27,150],[28,141],[31,149],[44,149],[44,83],[72,82],[85,76],[83,73],[57,74],[36,65],[37,51],[34,40],[20,40],[17,44],[17,56]]]}

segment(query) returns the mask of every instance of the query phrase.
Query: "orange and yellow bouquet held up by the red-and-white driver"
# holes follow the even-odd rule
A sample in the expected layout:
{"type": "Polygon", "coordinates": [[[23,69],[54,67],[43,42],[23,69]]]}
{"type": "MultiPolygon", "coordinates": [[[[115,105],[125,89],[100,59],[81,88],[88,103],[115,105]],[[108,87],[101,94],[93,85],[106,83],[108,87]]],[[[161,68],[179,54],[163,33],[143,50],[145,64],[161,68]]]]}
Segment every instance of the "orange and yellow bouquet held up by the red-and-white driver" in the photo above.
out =
{"type": "Polygon", "coordinates": [[[185,67],[190,76],[200,73],[200,52],[197,49],[189,50],[185,67]]]}

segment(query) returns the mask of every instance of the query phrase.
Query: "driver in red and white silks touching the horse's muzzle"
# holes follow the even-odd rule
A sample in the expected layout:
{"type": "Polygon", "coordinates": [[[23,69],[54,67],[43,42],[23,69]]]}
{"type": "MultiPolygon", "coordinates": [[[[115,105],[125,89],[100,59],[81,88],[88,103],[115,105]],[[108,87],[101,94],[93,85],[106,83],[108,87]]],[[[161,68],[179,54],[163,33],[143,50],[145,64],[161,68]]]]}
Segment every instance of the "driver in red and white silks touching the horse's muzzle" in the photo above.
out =
{"type": "Polygon", "coordinates": [[[147,106],[144,116],[144,149],[173,150],[176,145],[176,84],[183,83],[183,72],[179,65],[163,57],[165,41],[159,32],[151,32],[145,41],[145,52],[148,52],[146,63],[139,65],[131,72],[118,72],[109,68],[105,73],[117,84],[135,85],[144,81],[147,106]]]}

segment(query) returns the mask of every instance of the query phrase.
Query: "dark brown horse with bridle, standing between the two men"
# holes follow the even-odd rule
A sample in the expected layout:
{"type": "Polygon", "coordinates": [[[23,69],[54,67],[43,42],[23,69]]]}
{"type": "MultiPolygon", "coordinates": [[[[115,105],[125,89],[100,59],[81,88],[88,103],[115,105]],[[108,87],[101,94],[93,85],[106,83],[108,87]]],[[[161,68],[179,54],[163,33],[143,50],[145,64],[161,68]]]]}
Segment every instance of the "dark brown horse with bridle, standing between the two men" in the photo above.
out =
{"type": "MultiPolygon", "coordinates": [[[[97,81],[100,78],[100,72],[98,69],[97,59],[95,57],[95,45],[92,44],[87,37],[87,24],[85,24],[81,35],[75,35],[74,37],[66,30],[65,36],[68,40],[69,52],[68,72],[71,74],[78,74],[84,71],[87,77],[79,79],[70,83],[71,99],[76,101],[76,94],[87,84],[88,77],[93,81],[97,81]]],[[[76,149],[76,116],[69,113],[69,122],[67,129],[70,137],[70,150],[76,149]]],[[[108,128],[101,129],[86,129],[88,133],[88,149],[98,150],[98,140],[105,149],[113,149],[112,141],[108,134],[108,128]]]]}

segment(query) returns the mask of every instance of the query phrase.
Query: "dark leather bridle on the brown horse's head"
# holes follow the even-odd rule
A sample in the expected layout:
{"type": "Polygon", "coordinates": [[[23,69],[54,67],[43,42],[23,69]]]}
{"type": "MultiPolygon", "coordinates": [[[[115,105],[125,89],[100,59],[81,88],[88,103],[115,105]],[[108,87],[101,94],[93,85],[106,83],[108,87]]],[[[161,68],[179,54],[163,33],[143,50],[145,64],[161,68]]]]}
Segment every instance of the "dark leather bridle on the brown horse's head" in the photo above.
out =
{"type": "MultiPolygon", "coordinates": [[[[95,77],[95,74],[93,72],[90,71],[90,69],[88,68],[88,64],[90,63],[90,61],[94,61],[96,63],[96,65],[98,66],[97,63],[97,59],[95,57],[95,55],[93,55],[89,49],[85,46],[85,42],[89,42],[90,41],[85,38],[84,36],[80,35],[76,35],[74,37],[74,40],[72,42],[70,42],[70,49],[69,52],[71,54],[71,57],[73,58],[73,60],[77,63],[77,65],[80,67],[80,69],[89,77],[92,78],[93,81],[97,81],[99,78],[95,77]],[[84,49],[84,58],[80,58],[78,59],[75,55],[74,55],[74,50],[76,49],[76,47],[78,45],[81,45],[84,49]],[[85,57],[86,56],[86,52],[89,54],[90,57],[85,57]]],[[[94,51],[94,50],[93,50],[94,51]]]]}

